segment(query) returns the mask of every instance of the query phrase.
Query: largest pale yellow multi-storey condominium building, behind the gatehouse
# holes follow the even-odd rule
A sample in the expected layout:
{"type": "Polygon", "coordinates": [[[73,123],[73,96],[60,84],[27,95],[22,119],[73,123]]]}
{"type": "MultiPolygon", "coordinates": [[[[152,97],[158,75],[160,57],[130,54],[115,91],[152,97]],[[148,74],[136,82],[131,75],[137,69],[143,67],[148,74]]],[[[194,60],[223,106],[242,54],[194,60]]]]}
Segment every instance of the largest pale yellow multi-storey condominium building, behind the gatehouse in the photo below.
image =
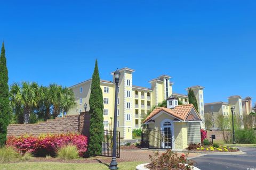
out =
{"type": "MultiPolygon", "coordinates": [[[[142,118],[146,117],[148,111],[152,106],[161,103],[166,98],[172,95],[173,83],[170,82],[169,75],[161,75],[149,83],[151,88],[135,86],[133,84],[133,69],[127,67],[119,69],[121,72],[118,84],[118,98],[117,98],[117,130],[120,132],[121,138],[132,139],[133,129],[141,127],[142,118]]],[[[103,94],[103,124],[105,129],[113,127],[114,122],[114,104],[115,104],[115,83],[114,72],[113,81],[100,80],[100,87],[103,94]]],[[[77,106],[71,109],[68,114],[79,114],[84,111],[83,105],[88,105],[91,92],[91,79],[71,86],[70,89],[74,91],[77,106]]],[[[200,88],[194,87],[195,94],[199,92],[200,88]]],[[[200,91],[198,94],[203,93],[200,91]]],[[[186,95],[177,95],[183,104],[188,103],[186,95]]],[[[203,100],[203,97],[201,98],[203,100]]],[[[200,102],[202,102],[200,100],[200,102]]],[[[204,126],[203,126],[204,127],[204,126]]]]}

